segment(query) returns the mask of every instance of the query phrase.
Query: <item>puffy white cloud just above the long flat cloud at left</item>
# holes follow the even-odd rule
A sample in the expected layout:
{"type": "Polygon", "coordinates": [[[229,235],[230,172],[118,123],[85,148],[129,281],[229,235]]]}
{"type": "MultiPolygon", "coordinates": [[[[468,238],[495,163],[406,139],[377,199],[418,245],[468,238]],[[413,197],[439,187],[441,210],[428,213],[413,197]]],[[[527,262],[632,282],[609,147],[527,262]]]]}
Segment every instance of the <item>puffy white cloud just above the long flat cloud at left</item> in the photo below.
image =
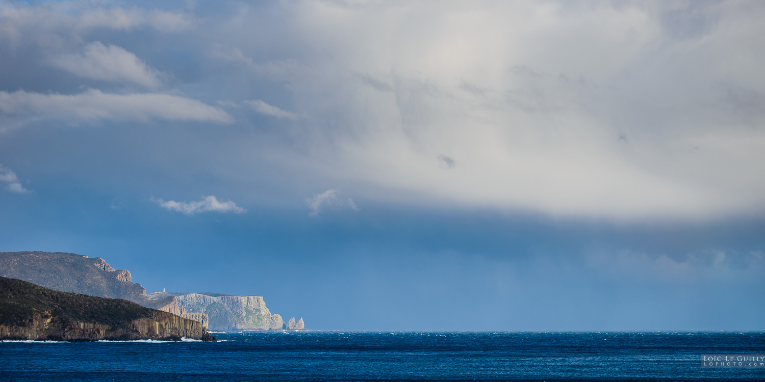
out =
{"type": "Polygon", "coordinates": [[[107,46],[99,41],[86,45],[83,53],[52,57],[50,64],[89,79],[135,83],[148,88],[161,85],[160,73],[135,57],[135,54],[122,47],[107,46]]]}

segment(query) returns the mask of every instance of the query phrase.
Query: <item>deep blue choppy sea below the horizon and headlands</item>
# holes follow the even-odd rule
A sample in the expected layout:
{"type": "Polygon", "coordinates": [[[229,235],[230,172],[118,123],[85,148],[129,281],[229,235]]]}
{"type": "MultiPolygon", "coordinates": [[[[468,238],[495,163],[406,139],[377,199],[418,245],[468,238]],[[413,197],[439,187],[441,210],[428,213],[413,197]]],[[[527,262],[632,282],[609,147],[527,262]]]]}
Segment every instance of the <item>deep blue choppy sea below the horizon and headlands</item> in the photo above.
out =
{"type": "Polygon", "coordinates": [[[701,354],[765,332],[249,332],[222,342],[0,343],[0,380],[765,380],[701,354]]]}

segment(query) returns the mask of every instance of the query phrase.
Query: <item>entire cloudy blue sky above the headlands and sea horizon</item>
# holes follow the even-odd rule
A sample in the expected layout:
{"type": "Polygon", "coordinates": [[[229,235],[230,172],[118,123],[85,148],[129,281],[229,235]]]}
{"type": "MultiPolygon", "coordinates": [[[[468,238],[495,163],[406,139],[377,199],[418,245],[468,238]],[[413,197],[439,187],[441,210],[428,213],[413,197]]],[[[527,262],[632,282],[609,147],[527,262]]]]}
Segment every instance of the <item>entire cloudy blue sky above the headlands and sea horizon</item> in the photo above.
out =
{"type": "Polygon", "coordinates": [[[0,251],[316,330],[765,330],[763,20],[0,0],[0,251]]]}

